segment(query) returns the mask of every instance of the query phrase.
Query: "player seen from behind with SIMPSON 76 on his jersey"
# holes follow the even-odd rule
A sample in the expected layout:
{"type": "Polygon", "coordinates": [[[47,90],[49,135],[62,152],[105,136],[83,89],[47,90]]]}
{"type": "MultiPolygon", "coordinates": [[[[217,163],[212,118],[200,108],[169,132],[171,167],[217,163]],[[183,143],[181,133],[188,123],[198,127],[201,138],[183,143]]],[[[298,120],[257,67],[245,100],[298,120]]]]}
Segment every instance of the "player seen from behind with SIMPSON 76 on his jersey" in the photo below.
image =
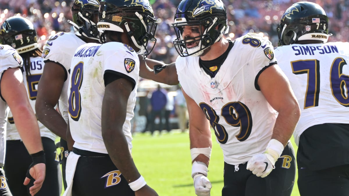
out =
{"type": "Polygon", "coordinates": [[[281,17],[275,56],[301,108],[298,189],[302,196],[349,195],[349,43],[327,42],[328,17],[298,2],[281,17]]]}

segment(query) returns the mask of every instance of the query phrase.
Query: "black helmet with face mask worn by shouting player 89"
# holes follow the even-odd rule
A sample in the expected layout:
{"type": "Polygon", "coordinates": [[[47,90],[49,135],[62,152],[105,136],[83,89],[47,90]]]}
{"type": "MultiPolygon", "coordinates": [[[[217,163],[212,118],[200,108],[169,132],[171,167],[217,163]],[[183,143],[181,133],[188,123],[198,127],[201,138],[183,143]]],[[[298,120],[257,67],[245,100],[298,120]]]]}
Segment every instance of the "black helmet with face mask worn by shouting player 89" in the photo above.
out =
{"type": "Polygon", "coordinates": [[[176,31],[177,39],[173,44],[179,55],[199,56],[228,33],[227,10],[221,0],[182,0],[177,7],[171,27],[176,31]],[[204,30],[200,36],[185,39],[182,33],[183,27],[187,25],[200,25],[204,30]],[[187,48],[189,39],[199,41],[199,45],[187,48]]]}

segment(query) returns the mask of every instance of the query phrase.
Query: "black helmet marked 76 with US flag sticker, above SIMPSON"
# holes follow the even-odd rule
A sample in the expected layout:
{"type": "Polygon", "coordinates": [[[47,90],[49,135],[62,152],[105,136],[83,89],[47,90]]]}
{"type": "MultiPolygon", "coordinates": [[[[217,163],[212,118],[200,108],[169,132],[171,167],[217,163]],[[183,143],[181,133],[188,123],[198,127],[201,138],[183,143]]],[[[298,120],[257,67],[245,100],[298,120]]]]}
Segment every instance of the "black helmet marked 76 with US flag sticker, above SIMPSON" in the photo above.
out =
{"type": "Polygon", "coordinates": [[[282,15],[277,26],[279,46],[297,43],[299,40],[328,40],[328,17],[321,6],[312,2],[298,2],[282,15]]]}

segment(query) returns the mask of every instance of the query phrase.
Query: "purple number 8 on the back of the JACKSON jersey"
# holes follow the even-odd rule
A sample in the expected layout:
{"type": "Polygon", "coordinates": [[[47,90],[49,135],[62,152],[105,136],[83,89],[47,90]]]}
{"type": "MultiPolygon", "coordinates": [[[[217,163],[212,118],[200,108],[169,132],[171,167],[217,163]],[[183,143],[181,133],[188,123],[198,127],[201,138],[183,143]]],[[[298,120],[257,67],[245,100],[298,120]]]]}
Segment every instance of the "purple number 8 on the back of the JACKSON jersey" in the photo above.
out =
{"type": "Polygon", "coordinates": [[[77,63],[74,67],[73,72],[70,74],[72,81],[70,81],[70,94],[68,98],[68,112],[70,117],[78,121],[81,114],[81,96],[80,96],[80,88],[82,84],[82,76],[83,76],[83,62],[77,63]]]}

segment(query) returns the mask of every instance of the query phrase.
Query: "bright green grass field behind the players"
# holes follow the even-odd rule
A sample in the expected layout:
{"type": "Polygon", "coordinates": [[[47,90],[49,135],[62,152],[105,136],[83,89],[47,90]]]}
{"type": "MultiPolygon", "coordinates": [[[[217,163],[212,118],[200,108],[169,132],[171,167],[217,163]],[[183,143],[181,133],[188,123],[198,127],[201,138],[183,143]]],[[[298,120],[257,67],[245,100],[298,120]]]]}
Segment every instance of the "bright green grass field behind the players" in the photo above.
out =
{"type": "MultiPolygon", "coordinates": [[[[220,196],[223,187],[223,154],[215,141],[213,138],[208,178],[212,183],[211,196],[220,196]]],[[[293,137],[291,142],[297,152],[293,137]]],[[[176,130],[161,135],[155,132],[154,136],[150,133],[135,133],[132,143],[132,156],[137,168],[159,196],[195,196],[193,179],[190,176],[188,133],[179,133],[176,130]]],[[[297,183],[292,196],[299,196],[297,183]]]]}

